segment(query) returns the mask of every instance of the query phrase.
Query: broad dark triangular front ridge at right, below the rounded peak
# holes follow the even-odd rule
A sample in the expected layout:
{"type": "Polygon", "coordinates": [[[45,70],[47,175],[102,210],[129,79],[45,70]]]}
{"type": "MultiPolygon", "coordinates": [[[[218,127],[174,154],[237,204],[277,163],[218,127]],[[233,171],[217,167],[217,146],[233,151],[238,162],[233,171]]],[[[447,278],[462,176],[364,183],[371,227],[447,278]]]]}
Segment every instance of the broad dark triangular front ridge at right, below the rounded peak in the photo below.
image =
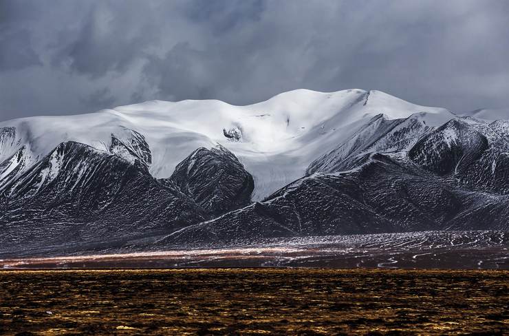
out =
{"type": "Polygon", "coordinates": [[[182,229],[162,245],[299,235],[508,230],[509,196],[407,169],[376,154],[347,174],[316,174],[263,202],[182,229]]]}

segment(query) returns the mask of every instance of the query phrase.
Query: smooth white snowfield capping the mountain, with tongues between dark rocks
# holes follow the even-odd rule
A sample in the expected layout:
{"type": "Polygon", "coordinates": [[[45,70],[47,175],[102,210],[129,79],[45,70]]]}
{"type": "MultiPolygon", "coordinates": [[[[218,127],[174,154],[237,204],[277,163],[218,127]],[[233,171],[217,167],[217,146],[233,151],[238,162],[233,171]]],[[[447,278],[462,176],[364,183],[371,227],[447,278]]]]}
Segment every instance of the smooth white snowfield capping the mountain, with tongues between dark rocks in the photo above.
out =
{"type": "MultiPolygon", "coordinates": [[[[261,200],[301,178],[307,166],[350,138],[373,116],[407,118],[413,114],[436,127],[455,115],[440,107],[415,105],[380,91],[294,90],[268,101],[235,106],[222,101],[147,101],[74,116],[37,116],[0,123],[13,126],[33,158],[59,143],[74,140],[107,150],[111,134],[122,127],[142,134],[152,152],[150,172],[167,178],[198,147],[223,145],[254,177],[253,200],[261,200]],[[239,142],[223,129],[239,129],[239,142]]],[[[0,163],[16,149],[0,152],[0,163]]],[[[28,169],[30,167],[26,167],[28,169]]]]}

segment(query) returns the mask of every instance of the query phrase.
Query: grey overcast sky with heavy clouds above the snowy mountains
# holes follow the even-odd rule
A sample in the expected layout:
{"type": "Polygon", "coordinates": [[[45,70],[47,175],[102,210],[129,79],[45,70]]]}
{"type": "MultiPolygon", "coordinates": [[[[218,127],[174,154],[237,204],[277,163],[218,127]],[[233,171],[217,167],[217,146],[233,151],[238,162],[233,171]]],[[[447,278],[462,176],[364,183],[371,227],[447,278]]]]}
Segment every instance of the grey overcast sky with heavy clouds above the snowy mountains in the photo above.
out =
{"type": "Polygon", "coordinates": [[[296,88],[509,107],[509,1],[0,0],[0,120],[296,88]]]}

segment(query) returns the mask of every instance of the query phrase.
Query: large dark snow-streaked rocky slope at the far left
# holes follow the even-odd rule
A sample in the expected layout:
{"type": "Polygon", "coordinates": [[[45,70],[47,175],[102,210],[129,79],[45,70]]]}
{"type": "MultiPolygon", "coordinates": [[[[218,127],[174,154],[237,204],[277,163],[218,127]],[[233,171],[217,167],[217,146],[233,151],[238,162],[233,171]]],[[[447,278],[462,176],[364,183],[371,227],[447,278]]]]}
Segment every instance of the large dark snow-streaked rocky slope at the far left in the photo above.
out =
{"type": "Polygon", "coordinates": [[[81,143],[61,143],[3,190],[2,247],[124,244],[206,219],[191,198],[145,169],[81,143]]]}

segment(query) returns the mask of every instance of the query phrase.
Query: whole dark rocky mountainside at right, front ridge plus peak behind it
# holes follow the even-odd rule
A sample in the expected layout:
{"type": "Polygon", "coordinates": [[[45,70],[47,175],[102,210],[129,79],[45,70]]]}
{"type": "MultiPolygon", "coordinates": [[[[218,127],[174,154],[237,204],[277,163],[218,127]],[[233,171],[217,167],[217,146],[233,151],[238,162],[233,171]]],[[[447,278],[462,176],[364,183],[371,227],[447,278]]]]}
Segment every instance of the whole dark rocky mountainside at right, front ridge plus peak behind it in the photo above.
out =
{"type": "MultiPolygon", "coordinates": [[[[435,130],[425,129],[409,151],[386,154],[345,151],[343,145],[331,155],[343,156],[349,165],[357,162],[357,167],[342,172],[345,161],[321,158],[310,167],[324,167],[327,173],[312,174],[263,202],[182,229],[161,244],[393,231],[509,230],[508,142],[507,133],[501,132],[506,126],[451,120],[435,130]]],[[[388,134],[393,136],[380,134],[378,143],[388,134]]],[[[357,140],[354,143],[358,149],[374,145],[371,140],[362,146],[357,140]]]]}

